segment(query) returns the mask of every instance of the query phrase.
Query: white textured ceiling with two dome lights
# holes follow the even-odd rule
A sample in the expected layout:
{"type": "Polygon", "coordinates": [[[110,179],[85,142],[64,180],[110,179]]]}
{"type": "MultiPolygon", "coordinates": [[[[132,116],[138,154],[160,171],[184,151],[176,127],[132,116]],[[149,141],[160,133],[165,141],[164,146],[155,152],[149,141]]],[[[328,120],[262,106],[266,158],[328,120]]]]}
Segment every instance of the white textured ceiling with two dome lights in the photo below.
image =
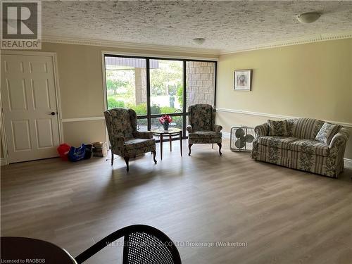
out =
{"type": "Polygon", "coordinates": [[[237,50],[352,31],[352,1],[43,1],[43,35],[237,50]],[[299,13],[318,11],[312,24],[299,13]],[[204,37],[199,46],[192,42],[204,37]]]}

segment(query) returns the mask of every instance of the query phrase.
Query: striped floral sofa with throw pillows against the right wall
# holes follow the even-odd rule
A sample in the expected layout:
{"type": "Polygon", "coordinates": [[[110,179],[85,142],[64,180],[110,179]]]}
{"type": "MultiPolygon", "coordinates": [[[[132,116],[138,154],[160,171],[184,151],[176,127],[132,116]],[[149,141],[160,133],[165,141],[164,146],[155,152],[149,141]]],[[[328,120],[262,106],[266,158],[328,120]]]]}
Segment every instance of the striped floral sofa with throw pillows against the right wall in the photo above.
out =
{"type": "Polygon", "coordinates": [[[341,125],[296,118],[268,120],[256,126],[255,131],[257,137],[253,140],[251,157],[256,161],[328,177],[337,177],[344,170],[344,151],[349,134],[341,125]]]}

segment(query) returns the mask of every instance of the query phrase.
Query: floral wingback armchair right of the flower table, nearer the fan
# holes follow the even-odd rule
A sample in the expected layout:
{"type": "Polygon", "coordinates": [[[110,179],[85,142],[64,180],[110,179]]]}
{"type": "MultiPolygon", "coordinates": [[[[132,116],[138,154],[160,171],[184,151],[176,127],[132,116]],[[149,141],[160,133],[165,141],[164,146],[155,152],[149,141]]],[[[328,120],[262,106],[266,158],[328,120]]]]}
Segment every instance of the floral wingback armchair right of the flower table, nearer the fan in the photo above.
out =
{"type": "Polygon", "coordinates": [[[188,134],[188,155],[191,156],[193,144],[218,144],[219,154],[221,153],[222,130],[221,125],[215,125],[215,108],[209,104],[195,104],[189,106],[188,134]]]}

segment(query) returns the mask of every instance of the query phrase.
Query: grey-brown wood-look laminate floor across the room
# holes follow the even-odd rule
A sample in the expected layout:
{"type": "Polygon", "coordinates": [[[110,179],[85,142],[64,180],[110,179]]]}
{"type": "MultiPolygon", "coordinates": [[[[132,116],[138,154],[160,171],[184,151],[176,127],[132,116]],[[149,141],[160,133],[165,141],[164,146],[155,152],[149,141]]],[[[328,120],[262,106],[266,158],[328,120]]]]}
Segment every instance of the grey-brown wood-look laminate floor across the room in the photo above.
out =
{"type": "MultiPolygon", "coordinates": [[[[338,180],[178,142],[154,165],[146,154],[113,167],[105,158],[58,158],[1,167],[1,235],[51,241],[73,256],[132,224],[180,244],[182,263],[352,263],[352,170],[338,180]],[[191,242],[237,242],[199,246],[191,242]]],[[[110,157],[110,156],[109,156],[110,157]]],[[[87,263],[120,263],[108,247],[87,263]]]]}

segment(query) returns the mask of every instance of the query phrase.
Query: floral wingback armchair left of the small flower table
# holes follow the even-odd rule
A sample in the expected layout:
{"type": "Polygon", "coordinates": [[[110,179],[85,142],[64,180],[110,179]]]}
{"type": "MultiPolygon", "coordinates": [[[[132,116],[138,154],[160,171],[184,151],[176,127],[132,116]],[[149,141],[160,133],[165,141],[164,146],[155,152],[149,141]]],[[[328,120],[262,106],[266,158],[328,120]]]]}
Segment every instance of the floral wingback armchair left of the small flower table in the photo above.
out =
{"type": "Polygon", "coordinates": [[[156,145],[153,134],[149,131],[137,131],[137,115],[132,109],[114,108],[104,112],[106,127],[111,143],[111,165],[113,155],[125,159],[127,171],[130,158],[151,152],[156,163],[156,145]]]}

